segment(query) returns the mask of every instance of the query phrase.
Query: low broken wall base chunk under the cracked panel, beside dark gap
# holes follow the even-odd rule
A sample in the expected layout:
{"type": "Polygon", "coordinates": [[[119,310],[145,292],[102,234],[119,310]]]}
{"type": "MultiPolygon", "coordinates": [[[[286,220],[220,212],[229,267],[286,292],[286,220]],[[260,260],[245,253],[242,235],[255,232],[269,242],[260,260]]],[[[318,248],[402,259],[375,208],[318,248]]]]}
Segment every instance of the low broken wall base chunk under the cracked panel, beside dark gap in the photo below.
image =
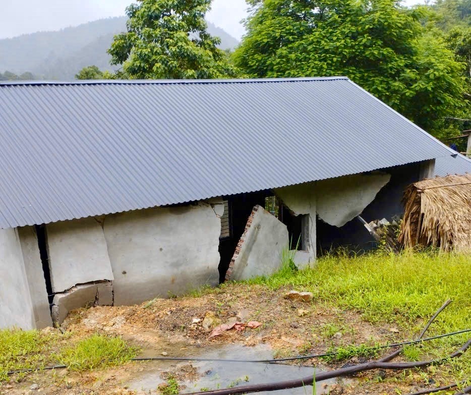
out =
{"type": "Polygon", "coordinates": [[[112,306],[113,286],[110,281],[72,287],[56,294],[52,302],[52,320],[62,324],[69,312],[82,307],[112,306]]]}

